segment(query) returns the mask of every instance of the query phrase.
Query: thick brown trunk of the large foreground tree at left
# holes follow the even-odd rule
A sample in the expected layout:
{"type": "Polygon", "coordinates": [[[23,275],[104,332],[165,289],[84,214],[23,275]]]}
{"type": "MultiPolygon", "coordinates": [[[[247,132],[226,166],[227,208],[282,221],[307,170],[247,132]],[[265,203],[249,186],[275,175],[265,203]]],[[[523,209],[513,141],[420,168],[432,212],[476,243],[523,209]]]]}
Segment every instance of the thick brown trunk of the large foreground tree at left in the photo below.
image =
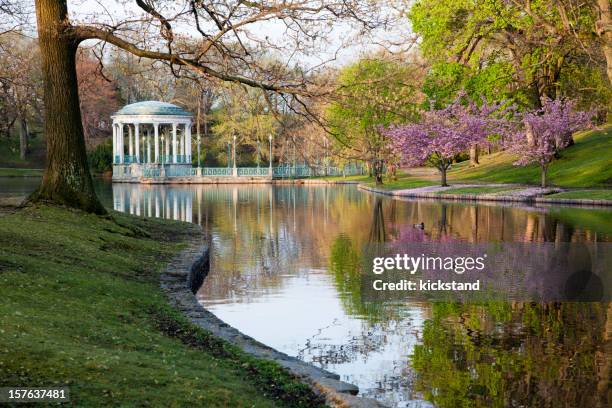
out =
{"type": "Polygon", "coordinates": [[[36,0],[43,68],[47,166],[33,201],[105,213],[87,165],[76,75],[78,42],[64,32],[66,1],[36,0]]]}

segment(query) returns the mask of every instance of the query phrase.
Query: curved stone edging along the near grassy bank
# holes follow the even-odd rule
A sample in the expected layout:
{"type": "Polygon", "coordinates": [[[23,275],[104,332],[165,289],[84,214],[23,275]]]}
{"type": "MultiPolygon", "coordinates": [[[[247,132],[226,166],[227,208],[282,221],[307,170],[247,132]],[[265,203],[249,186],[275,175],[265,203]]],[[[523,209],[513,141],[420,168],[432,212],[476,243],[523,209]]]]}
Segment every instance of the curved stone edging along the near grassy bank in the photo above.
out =
{"type": "MultiPolygon", "coordinates": [[[[200,230],[201,231],[201,230],[200,230]]],[[[160,276],[160,286],[169,303],[196,324],[258,358],[275,361],[325,396],[330,406],[383,408],[385,405],[358,397],[359,388],[340,380],[338,374],[318,368],[269,347],[225,323],[197,301],[194,293],[208,275],[209,247],[200,233],[194,235],[186,249],[166,266],[160,276]],[[194,290],[195,289],[195,290],[194,290]]]]}

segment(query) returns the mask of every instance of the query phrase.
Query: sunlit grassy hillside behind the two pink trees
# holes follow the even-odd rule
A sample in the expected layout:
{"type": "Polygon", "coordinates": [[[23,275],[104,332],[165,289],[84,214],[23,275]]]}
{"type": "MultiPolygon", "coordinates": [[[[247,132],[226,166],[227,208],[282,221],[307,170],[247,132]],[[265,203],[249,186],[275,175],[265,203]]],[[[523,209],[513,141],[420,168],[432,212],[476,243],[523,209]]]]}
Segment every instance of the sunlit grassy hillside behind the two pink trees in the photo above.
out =
{"type": "MultiPolygon", "coordinates": [[[[561,153],[549,168],[551,185],[564,187],[612,186],[612,125],[603,130],[574,135],[576,143],[561,153]]],[[[539,184],[540,169],[537,165],[518,167],[512,165],[515,157],[506,153],[482,156],[480,165],[469,167],[469,162],[459,163],[449,172],[452,181],[478,181],[493,183],[539,184]]]]}

